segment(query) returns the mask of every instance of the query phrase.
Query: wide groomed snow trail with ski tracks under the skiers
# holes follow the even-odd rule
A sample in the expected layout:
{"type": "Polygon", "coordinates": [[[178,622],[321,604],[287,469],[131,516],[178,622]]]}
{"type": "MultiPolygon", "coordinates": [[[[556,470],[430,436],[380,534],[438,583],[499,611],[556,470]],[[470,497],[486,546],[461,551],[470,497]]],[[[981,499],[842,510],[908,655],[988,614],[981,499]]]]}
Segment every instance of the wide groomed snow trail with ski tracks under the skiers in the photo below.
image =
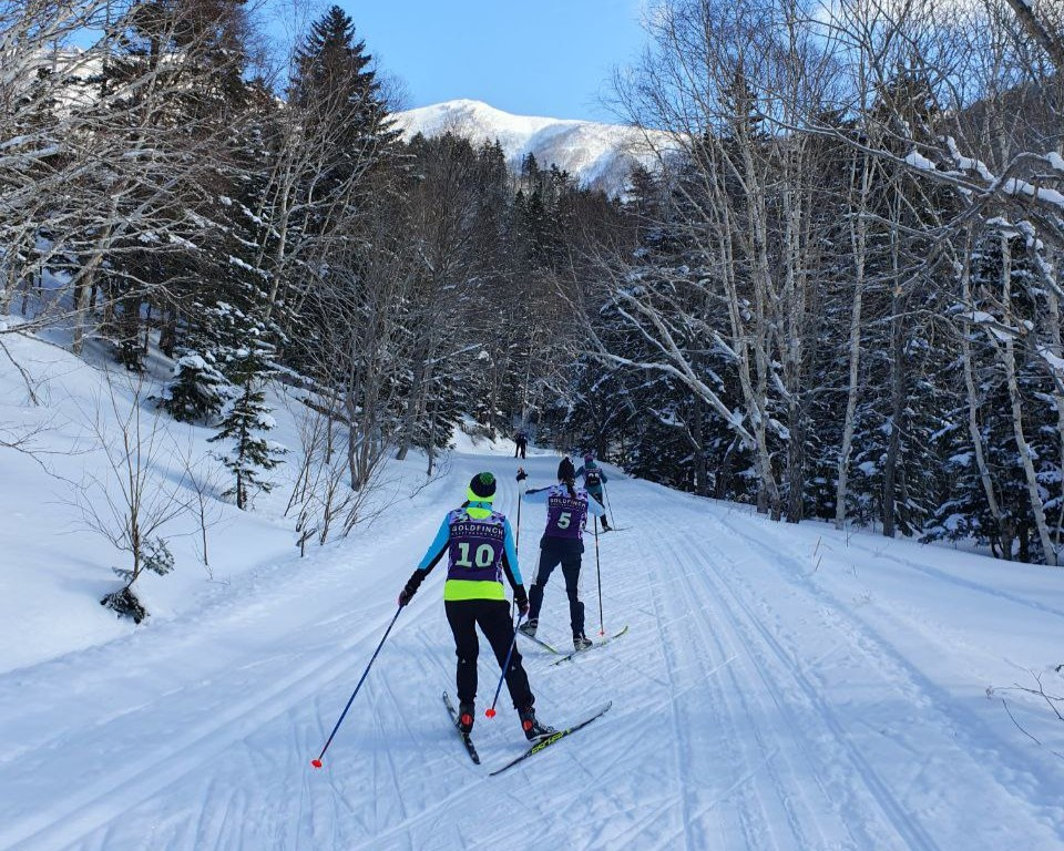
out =
{"type": "MultiPolygon", "coordinates": [[[[556,458],[524,463],[551,483],[556,458]]],[[[1064,593],[1045,568],[620,476],[630,529],[598,553],[605,632],[628,634],[557,666],[519,644],[543,720],[612,699],[604,718],[489,778],[524,742],[505,689],[483,717],[498,667],[482,646],[473,766],[439,698],[453,644],[438,567],[311,769],[443,512],[489,469],[515,519],[515,468],[456,454],[357,537],[0,677],[0,849],[1064,848],[1064,760],[984,694],[1058,650],[1064,593]]],[[[530,583],[542,507],[521,520],[530,583]]],[[[582,598],[595,637],[590,536],[582,598]]],[[[560,572],[541,635],[570,646],[560,572]]]]}

